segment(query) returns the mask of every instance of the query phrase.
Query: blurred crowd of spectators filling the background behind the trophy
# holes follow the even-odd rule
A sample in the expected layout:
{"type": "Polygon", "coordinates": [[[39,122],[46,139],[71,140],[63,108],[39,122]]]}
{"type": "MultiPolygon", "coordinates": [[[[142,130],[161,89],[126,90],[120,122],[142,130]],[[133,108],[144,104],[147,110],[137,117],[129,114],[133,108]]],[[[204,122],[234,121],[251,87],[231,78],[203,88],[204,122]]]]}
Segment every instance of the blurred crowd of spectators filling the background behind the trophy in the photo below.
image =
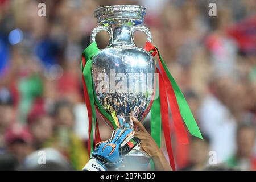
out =
{"type": "MultiPolygon", "coordinates": [[[[203,133],[188,145],[172,135],[177,168],[256,169],[255,0],[0,0],[0,169],[80,170],[88,161],[80,56],[97,26],[93,11],[121,3],[147,8],[152,42],[203,133]]],[[[141,32],[134,39],[146,42],[141,32]]],[[[96,41],[105,48],[108,35],[96,41]]]]}

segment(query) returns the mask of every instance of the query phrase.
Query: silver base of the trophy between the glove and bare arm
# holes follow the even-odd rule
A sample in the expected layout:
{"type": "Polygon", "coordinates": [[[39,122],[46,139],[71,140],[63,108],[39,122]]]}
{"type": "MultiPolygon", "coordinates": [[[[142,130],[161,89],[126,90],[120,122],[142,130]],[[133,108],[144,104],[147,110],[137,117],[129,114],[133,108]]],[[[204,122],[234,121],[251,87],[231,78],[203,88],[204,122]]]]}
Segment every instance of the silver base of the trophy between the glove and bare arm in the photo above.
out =
{"type": "Polygon", "coordinates": [[[147,152],[143,151],[141,147],[137,146],[125,156],[123,159],[123,166],[119,167],[119,170],[145,171],[147,170],[149,162],[150,156],[147,154],[147,152]]]}

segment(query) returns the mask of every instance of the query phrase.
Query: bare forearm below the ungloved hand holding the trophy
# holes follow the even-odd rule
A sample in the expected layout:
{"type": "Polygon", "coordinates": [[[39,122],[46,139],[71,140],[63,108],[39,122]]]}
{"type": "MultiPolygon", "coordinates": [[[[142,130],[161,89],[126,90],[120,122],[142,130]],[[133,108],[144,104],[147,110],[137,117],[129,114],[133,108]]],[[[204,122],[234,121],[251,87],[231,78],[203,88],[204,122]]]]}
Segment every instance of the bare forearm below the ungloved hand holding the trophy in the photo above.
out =
{"type": "Polygon", "coordinates": [[[172,171],[172,168],[166,160],[162,150],[159,149],[151,158],[154,161],[156,171],[172,171]]]}

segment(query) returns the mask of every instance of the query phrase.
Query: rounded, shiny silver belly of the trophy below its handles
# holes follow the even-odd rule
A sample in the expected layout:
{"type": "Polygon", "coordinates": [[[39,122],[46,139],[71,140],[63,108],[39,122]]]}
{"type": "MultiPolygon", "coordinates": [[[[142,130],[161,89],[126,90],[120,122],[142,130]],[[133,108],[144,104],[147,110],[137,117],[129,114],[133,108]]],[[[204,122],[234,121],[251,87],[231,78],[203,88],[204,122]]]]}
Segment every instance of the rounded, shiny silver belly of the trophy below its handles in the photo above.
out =
{"type": "Polygon", "coordinates": [[[142,121],[154,90],[154,72],[151,55],[138,47],[106,48],[93,57],[94,90],[118,127],[132,127],[130,115],[142,121]]]}

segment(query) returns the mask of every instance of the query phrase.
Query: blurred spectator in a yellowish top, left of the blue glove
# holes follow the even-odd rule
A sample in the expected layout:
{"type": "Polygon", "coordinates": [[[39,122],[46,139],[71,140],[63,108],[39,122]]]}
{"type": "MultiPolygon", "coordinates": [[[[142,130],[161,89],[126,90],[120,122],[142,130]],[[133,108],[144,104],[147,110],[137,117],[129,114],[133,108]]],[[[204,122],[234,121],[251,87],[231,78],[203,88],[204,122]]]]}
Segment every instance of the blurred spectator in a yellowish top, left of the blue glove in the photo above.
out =
{"type": "Polygon", "coordinates": [[[82,140],[73,132],[73,106],[65,100],[56,102],[53,117],[54,133],[44,147],[55,148],[69,159],[74,169],[82,169],[88,161],[88,154],[82,140]]]}

